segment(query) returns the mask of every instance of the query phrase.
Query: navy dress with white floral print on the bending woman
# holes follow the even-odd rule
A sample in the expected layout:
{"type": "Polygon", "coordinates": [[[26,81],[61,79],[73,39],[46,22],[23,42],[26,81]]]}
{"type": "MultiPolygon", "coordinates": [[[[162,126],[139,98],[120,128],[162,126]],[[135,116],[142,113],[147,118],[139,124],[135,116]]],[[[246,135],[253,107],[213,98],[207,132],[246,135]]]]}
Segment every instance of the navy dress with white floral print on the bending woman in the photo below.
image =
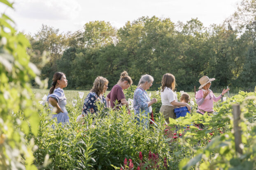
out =
{"type": "Polygon", "coordinates": [[[104,104],[104,108],[107,107],[107,103],[106,103],[105,97],[103,95],[98,96],[95,92],[90,92],[84,100],[82,114],[87,115],[88,113],[96,113],[97,112],[97,105],[96,105],[97,101],[104,104]]]}

